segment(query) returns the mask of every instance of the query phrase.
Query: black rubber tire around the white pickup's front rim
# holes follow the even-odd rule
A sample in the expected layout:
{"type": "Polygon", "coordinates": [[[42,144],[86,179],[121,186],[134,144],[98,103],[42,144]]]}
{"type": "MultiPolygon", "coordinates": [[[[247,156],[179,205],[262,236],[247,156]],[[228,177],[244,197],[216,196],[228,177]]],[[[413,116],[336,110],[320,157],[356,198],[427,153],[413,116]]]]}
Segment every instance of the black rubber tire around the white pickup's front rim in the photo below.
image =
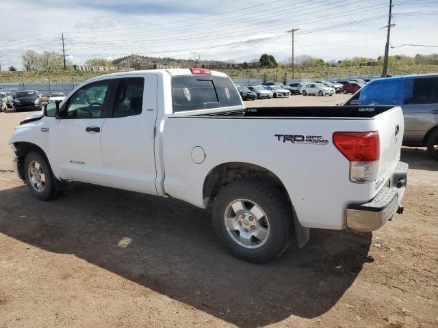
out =
{"type": "Polygon", "coordinates": [[[27,188],[29,189],[31,195],[36,197],[37,200],[53,200],[54,198],[58,197],[61,194],[61,190],[57,184],[57,180],[55,180],[55,176],[53,176],[52,169],[45,158],[45,156],[42,156],[39,152],[29,152],[25,157],[25,163],[24,163],[24,176],[25,176],[25,182],[27,184],[27,188]],[[33,182],[31,182],[31,177],[29,174],[29,165],[31,163],[37,162],[40,167],[42,168],[42,172],[44,173],[44,187],[41,191],[37,191],[36,187],[34,187],[33,182]]]}

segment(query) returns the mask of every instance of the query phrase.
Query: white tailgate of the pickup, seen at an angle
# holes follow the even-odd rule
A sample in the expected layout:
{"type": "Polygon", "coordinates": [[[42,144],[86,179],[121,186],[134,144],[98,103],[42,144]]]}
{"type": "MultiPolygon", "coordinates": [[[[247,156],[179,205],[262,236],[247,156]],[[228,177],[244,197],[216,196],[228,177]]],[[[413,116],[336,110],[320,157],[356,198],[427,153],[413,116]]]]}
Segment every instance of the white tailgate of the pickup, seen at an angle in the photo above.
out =
{"type": "Polygon", "coordinates": [[[394,107],[374,117],[380,139],[380,159],[378,162],[376,193],[391,177],[398,161],[404,133],[403,112],[394,107]]]}

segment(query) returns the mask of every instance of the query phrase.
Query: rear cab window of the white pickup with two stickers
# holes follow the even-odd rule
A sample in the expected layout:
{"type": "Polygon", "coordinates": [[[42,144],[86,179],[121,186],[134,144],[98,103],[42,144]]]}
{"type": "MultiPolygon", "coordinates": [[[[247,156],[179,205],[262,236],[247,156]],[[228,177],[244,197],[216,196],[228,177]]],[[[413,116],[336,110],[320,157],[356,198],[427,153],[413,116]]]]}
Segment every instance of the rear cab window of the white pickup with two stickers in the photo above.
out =
{"type": "Polygon", "coordinates": [[[183,75],[172,77],[173,112],[242,106],[229,77],[183,75]]]}

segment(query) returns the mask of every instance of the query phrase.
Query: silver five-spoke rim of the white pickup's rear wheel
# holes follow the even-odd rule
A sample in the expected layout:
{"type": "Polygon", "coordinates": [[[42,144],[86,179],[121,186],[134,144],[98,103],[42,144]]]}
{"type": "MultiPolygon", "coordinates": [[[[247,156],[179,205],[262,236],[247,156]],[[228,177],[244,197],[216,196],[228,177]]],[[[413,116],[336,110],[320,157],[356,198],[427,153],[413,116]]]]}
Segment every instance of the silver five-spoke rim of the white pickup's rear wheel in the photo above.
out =
{"type": "Polygon", "coordinates": [[[251,200],[233,200],[225,210],[224,223],[233,241],[244,248],[258,248],[268,241],[268,217],[263,209],[251,200]]]}

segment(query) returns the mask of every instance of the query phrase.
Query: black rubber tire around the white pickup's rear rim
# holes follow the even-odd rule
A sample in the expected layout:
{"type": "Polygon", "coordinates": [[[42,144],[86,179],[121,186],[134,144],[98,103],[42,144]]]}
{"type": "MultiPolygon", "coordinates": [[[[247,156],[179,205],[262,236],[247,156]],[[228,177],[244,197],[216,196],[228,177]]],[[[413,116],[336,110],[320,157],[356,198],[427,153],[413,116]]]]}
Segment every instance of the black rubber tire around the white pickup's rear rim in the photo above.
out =
{"type": "Polygon", "coordinates": [[[289,246],[292,236],[292,207],[284,193],[271,184],[237,180],[223,187],[214,200],[213,225],[218,238],[233,256],[253,263],[267,262],[279,256],[289,246]],[[269,234],[266,241],[257,248],[239,245],[225,224],[227,208],[233,201],[240,199],[257,204],[266,213],[269,234]]]}

